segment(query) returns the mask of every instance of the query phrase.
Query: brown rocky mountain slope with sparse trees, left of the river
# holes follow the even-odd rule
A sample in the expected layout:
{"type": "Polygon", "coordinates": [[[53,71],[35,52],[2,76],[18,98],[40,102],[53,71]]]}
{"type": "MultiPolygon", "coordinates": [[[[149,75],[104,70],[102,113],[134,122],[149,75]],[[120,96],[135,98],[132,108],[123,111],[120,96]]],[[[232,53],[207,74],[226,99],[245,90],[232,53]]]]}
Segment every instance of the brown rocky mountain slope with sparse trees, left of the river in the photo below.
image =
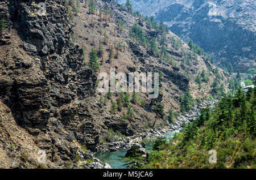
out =
{"type": "MultiPolygon", "coordinates": [[[[97,0],[93,13],[86,2],[77,2],[77,12],[70,12],[71,5],[64,0],[0,2],[0,19],[7,23],[0,37],[0,168],[104,168],[85,146],[96,152],[99,145],[120,139],[117,131],[126,136],[146,133],[154,122],[151,108],[156,103],[164,105],[164,112],[170,108],[180,112],[179,96],[185,89],[204,99],[211,91],[216,67],[204,56],[182,65],[189,48],[173,33],[166,40],[173,62],[167,62],[129,37],[130,28],[139,23],[147,37],[160,41],[150,25],[113,1],[97,0]],[[38,14],[40,2],[46,3],[45,15],[38,14]],[[108,13],[102,13],[106,8],[108,13]],[[107,101],[96,91],[96,74],[86,66],[104,29],[108,42],[99,59],[100,71],[114,67],[125,73],[162,72],[159,98],[151,101],[138,94],[141,101],[131,103],[130,120],[123,118],[127,107],[111,112],[119,94],[109,95],[107,101]],[[174,47],[174,38],[179,48],[174,47]],[[106,62],[111,47],[119,43],[118,56],[106,62]],[[203,69],[209,82],[199,90],[195,78],[203,69]],[[44,164],[38,161],[39,149],[46,151],[44,164]]],[[[226,87],[223,71],[219,73],[226,87]]],[[[164,126],[169,126],[166,116],[156,123],[158,128],[164,126]]]]}

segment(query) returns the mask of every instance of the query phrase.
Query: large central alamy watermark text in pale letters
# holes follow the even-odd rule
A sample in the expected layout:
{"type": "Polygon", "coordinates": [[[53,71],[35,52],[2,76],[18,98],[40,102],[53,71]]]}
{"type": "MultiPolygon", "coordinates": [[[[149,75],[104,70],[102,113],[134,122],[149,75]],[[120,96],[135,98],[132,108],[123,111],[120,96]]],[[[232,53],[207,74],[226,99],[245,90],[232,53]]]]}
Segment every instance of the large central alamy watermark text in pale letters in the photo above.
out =
{"type": "Polygon", "coordinates": [[[107,93],[109,88],[110,92],[142,92],[148,93],[148,98],[158,98],[159,73],[130,72],[127,77],[124,72],[115,74],[115,68],[111,68],[110,76],[108,72],[100,72],[98,74],[97,91],[107,93]],[[152,79],[154,79],[154,82],[152,79]]]}

